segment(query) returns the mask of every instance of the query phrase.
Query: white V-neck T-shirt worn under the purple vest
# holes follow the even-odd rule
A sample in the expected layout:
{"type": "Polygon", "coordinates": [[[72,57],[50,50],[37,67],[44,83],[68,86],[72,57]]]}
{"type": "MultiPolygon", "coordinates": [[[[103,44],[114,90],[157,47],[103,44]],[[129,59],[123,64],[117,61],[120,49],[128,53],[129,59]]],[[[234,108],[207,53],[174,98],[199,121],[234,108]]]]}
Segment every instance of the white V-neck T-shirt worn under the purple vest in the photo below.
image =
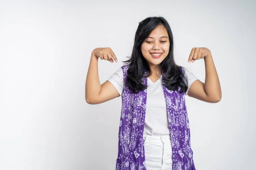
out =
{"type": "MultiPolygon", "coordinates": [[[[183,67],[184,68],[184,67],[183,67]]],[[[197,80],[192,72],[184,68],[185,75],[188,79],[188,90],[185,95],[188,96],[190,85],[197,80]]],[[[163,93],[162,76],[156,81],[152,82],[148,80],[148,91],[147,91],[147,107],[145,115],[145,126],[143,134],[148,135],[170,135],[169,121],[167,116],[166,101],[163,93]]],[[[123,93],[124,80],[123,72],[120,67],[109,79],[109,82],[113,84],[119,93],[119,96],[123,93]]]]}

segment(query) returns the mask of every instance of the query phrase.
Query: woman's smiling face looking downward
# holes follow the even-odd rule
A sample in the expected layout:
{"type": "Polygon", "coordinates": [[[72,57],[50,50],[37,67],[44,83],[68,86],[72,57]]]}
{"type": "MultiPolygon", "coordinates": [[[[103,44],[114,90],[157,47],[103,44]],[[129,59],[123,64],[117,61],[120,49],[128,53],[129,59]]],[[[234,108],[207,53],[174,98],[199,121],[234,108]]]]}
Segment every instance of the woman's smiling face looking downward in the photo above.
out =
{"type": "Polygon", "coordinates": [[[155,28],[145,42],[143,42],[141,52],[152,69],[167,57],[169,47],[170,41],[166,28],[160,25],[155,28]]]}

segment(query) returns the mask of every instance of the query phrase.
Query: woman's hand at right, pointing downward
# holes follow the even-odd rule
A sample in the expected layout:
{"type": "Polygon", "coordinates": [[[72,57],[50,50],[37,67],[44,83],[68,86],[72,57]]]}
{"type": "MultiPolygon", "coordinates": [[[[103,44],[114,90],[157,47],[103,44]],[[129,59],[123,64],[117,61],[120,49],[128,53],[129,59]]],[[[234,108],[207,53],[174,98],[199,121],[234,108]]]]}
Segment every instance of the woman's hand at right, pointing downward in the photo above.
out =
{"type": "Polygon", "coordinates": [[[195,62],[195,60],[197,59],[203,59],[204,57],[208,56],[210,52],[211,51],[205,47],[198,47],[198,48],[194,47],[190,52],[188,62],[190,61],[195,62]]]}

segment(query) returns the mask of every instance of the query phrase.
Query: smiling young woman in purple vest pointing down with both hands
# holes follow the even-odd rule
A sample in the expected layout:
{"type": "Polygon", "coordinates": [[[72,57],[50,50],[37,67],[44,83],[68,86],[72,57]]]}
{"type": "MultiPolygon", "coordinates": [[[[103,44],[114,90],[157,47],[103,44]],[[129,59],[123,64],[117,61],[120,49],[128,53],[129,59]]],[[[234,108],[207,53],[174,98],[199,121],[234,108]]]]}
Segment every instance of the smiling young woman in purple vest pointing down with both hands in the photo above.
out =
{"type": "Polygon", "coordinates": [[[139,23],[130,59],[102,85],[98,59],[117,62],[111,48],[93,50],[85,98],[99,104],[122,96],[116,170],[195,170],[184,95],[221,100],[218,74],[208,48],[192,48],[188,62],[204,59],[205,83],[175,63],[173,36],[163,17],[139,23]]]}

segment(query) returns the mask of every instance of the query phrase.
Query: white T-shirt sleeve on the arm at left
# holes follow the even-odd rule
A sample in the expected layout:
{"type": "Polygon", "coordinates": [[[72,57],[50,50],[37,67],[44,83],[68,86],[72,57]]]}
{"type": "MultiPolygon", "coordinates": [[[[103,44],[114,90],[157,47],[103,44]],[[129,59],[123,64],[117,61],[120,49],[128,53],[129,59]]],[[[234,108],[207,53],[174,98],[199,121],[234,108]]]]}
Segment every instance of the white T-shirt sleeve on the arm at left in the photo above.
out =
{"type": "Polygon", "coordinates": [[[119,93],[119,96],[123,93],[124,79],[122,67],[120,67],[107,81],[111,82],[119,93]]]}

